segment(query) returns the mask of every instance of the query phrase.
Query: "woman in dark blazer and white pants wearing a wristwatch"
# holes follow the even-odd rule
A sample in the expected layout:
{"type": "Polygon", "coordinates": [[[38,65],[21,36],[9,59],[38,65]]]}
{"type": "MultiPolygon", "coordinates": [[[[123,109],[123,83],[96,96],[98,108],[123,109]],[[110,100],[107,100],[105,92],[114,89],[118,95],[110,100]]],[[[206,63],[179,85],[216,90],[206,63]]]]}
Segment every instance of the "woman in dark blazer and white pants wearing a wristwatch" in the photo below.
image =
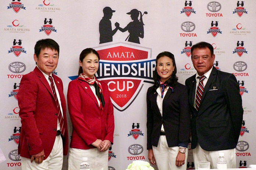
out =
{"type": "Polygon", "coordinates": [[[172,53],[157,55],[154,85],[147,90],[147,149],[159,170],[186,169],[191,113],[188,90],[176,73],[172,53]]]}

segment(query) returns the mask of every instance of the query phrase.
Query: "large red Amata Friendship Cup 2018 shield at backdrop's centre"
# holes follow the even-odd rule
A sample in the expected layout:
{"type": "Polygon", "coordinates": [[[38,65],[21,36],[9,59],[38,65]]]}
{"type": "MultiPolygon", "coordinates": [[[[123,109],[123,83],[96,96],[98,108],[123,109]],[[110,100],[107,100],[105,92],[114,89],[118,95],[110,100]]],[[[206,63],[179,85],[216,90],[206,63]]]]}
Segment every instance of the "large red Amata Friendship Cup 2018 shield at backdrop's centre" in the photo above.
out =
{"type": "Polygon", "coordinates": [[[155,59],[151,49],[118,43],[95,48],[100,55],[98,80],[109,86],[110,98],[119,111],[127,109],[145,83],[153,82],[155,59]]]}

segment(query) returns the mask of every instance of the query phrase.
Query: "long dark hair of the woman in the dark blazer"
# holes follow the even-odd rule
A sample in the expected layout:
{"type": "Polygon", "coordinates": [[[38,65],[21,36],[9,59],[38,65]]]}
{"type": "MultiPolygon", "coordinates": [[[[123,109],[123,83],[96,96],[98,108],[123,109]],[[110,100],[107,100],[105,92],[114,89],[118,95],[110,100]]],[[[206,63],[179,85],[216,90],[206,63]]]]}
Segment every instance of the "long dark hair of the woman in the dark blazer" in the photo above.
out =
{"type": "MultiPolygon", "coordinates": [[[[174,55],[172,53],[168,52],[168,51],[164,51],[164,52],[159,53],[159,55],[157,55],[157,57],[156,57],[156,67],[157,67],[158,60],[161,57],[163,57],[163,56],[169,57],[173,61],[173,66],[174,66],[173,74],[164,83],[167,83],[169,86],[174,87],[177,84],[177,82],[178,82],[178,77],[176,76],[177,68],[176,68],[176,63],[175,63],[174,55]]],[[[154,78],[154,85],[153,85],[153,87],[155,89],[157,89],[159,87],[159,83],[157,81],[160,80],[161,77],[157,74],[157,70],[156,69],[154,71],[153,78],[154,78]]]]}

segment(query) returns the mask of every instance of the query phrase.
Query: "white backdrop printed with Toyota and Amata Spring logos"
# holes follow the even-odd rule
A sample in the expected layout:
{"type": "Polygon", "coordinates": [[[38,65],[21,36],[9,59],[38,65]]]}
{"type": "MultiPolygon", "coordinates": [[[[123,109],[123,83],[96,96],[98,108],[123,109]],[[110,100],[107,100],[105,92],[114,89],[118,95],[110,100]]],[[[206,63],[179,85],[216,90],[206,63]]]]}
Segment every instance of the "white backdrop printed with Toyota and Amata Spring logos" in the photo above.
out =
{"type": "MultiPolygon", "coordinates": [[[[92,47],[100,53],[97,77],[109,85],[115,115],[110,170],[124,170],[133,160],[148,161],[146,91],[153,85],[157,54],[174,53],[179,82],[185,84],[196,73],[191,46],[209,42],[215,50],[214,66],[233,73],[240,84],[244,117],[237,167],[256,163],[255,0],[1,0],[0,16],[0,148],[6,157],[0,169],[21,169],[16,95],[22,75],[35,67],[33,47],[42,38],[60,45],[54,74],[63,80],[65,94],[77,76],[80,52],[92,47]],[[104,16],[105,7],[115,11],[113,16],[104,16]],[[118,24],[123,32],[111,32],[118,24]]],[[[71,123],[69,127],[71,134],[71,123]]],[[[187,168],[194,169],[191,149],[187,168]]]]}

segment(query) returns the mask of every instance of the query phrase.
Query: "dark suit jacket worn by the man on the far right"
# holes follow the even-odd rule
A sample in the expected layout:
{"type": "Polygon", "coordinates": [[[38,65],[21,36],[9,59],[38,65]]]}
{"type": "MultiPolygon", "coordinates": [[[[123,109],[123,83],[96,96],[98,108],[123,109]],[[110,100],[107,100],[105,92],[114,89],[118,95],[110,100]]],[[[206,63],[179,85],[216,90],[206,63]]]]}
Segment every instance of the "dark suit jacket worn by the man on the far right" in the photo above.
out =
{"type": "Polygon", "coordinates": [[[206,151],[235,148],[243,120],[242,98],[235,76],[213,67],[198,111],[193,107],[196,75],[188,78],[185,84],[192,111],[191,148],[194,149],[197,143],[206,151]]]}

